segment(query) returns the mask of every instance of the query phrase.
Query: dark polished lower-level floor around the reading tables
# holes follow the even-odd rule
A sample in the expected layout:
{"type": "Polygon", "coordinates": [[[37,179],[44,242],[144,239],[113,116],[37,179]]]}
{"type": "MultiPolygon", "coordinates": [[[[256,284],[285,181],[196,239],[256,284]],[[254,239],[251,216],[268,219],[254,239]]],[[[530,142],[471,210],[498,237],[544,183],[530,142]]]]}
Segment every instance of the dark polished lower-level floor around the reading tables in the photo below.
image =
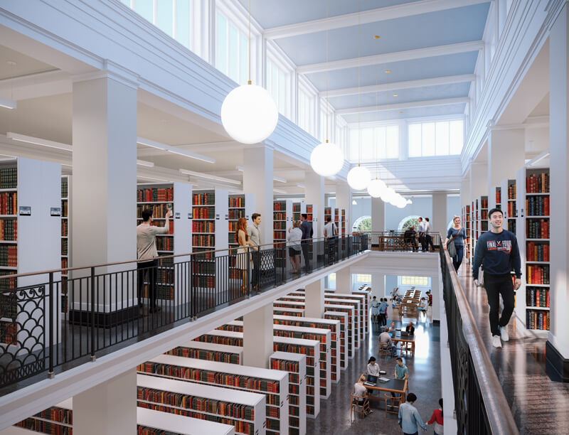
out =
{"type": "MultiPolygon", "coordinates": [[[[390,324],[391,319],[388,321],[390,324]]],[[[406,324],[407,322],[405,322],[406,324]]],[[[400,321],[395,321],[400,328],[400,321]]],[[[440,399],[440,328],[430,321],[422,318],[415,328],[416,345],[415,357],[404,358],[405,364],[409,369],[409,392],[417,394],[418,400],[415,406],[419,410],[421,417],[427,421],[430,419],[432,410],[438,406],[440,399]]],[[[361,419],[354,415],[350,421],[350,393],[353,384],[358,380],[358,376],[366,370],[368,358],[374,355],[381,370],[388,372],[388,376],[393,376],[395,369],[395,358],[378,357],[378,331],[374,328],[362,343],[352,360],[349,360],[349,367],[341,372],[341,380],[333,384],[332,394],[329,399],[320,401],[320,414],[317,419],[307,419],[307,434],[358,434],[358,435],[378,435],[378,434],[401,434],[396,414],[388,414],[385,417],[383,402],[371,401],[373,413],[361,419]]],[[[428,427],[428,426],[427,426],[428,427]]],[[[431,428],[432,426],[430,426],[431,428]]],[[[422,433],[422,431],[420,431],[422,433]]],[[[428,429],[427,434],[432,434],[432,429],[428,429]]]]}

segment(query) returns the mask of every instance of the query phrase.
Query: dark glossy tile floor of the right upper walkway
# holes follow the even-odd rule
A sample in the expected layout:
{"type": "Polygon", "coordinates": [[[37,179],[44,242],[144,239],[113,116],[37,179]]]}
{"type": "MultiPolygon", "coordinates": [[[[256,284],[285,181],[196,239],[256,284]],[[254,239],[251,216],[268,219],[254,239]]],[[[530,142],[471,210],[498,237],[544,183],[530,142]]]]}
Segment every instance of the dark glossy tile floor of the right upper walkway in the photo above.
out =
{"type": "Polygon", "coordinates": [[[512,317],[510,341],[493,348],[486,291],[474,286],[468,267],[461,269],[462,288],[520,434],[569,434],[569,384],[553,382],[546,374],[546,340],[522,338],[512,317]]]}

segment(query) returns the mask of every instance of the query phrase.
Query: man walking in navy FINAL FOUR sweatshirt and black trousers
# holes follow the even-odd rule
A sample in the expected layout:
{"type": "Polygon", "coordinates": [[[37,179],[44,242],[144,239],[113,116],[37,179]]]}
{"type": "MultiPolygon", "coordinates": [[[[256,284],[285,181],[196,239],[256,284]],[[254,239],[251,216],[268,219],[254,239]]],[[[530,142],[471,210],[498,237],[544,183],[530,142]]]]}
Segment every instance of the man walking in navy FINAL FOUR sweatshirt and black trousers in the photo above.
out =
{"type": "Polygon", "coordinates": [[[516,236],[502,228],[504,215],[499,208],[492,208],[488,213],[491,230],[478,237],[474,262],[472,262],[472,278],[479,285],[478,271],[484,270],[484,288],[490,306],[490,331],[492,345],[501,348],[501,341],[508,341],[506,326],[514,311],[514,283],[511,279],[511,269],[516,273],[516,290],[521,286],[521,259],[516,236]],[[501,317],[500,295],[504,301],[501,317]]]}

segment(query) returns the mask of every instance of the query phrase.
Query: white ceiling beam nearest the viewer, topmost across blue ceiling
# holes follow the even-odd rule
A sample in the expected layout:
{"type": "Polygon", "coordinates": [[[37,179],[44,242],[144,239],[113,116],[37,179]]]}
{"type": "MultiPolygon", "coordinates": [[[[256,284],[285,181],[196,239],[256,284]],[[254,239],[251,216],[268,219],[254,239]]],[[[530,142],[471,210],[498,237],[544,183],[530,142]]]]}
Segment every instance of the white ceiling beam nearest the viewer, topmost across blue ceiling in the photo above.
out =
{"type": "Polygon", "coordinates": [[[307,33],[324,32],[334,28],[358,26],[358,23],[377,23],[379,21],[393,20],[405,16],[429,14],[430,12],[445,11],[446,9],[471,6],[473,4],[486,3],[491,0],[421,0],[411,3],[387,6],[385,8],[371,9],[353,14],[331,16],[319,20],[304,21],[303,23],[289,24],[268,28],[263,32],[267,39],[289,38],[290,36],[305,35],[307,33]]]}

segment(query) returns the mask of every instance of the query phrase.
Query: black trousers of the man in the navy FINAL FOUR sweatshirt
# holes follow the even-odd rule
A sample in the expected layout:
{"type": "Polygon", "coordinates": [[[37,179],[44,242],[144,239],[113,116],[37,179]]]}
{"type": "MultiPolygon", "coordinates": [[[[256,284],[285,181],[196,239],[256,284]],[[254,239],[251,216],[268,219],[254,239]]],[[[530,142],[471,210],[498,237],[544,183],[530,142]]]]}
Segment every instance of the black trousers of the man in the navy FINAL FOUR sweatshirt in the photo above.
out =
{"type": "Polygon", "coordinates": [[[506,326],[514,312],[514,283],[511,274],[491,275],[484,272],[484,288],[490,306],[490,331],[500,335],[499,326],[506,326]],[[504,300],[504,310],[500,313],[500,295],[504,300]]]}

